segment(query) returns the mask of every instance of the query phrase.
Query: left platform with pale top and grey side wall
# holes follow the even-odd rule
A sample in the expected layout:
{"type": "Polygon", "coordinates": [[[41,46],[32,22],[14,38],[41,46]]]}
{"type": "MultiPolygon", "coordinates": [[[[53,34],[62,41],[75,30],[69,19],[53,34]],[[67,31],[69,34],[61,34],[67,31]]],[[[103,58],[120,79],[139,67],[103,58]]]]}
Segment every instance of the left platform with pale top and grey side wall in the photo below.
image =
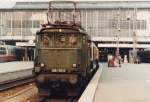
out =
{"type": "Polygon", "coordinates": [[[13,61],[0,63],[0,84],[17,78],[32,76],[33,62],[13,61]]]}

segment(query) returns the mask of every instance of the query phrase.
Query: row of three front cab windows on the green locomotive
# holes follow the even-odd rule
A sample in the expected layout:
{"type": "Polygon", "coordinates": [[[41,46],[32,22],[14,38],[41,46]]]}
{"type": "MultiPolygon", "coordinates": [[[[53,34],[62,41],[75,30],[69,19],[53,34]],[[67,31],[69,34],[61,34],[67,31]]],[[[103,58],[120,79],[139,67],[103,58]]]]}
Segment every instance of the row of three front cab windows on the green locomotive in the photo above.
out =
{"type": "Polygon", "coordinates": [[[38,37],[40,47],[80,47],[79,34],[42,34],[38,37]]]}

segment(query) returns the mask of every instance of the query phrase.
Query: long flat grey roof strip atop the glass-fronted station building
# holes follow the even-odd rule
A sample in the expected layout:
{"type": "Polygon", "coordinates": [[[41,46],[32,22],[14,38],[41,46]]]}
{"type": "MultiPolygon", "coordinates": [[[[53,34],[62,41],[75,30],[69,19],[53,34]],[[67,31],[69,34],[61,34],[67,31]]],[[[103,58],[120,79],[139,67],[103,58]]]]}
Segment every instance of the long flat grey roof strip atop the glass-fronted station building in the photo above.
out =
{"type": "MultiPolygon", "coordinates": [[[[113,9],[113,8],[150,8],[150,1],[77,1],[78,9],[113,9]]],[[[16,2],[13,10],[46,10],[49,2],[16,2]]],[[[53,9],[72,9],[73,4],[54,1],[53,9]]]]}

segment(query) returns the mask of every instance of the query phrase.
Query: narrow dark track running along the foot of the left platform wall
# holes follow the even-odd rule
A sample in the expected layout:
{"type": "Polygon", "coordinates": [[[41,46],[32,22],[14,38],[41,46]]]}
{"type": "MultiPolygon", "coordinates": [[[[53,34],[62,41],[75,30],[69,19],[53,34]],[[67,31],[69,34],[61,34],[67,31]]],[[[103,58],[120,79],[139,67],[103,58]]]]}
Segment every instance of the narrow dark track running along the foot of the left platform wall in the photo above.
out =
{"type": "Polygon", "coordinates": [[[29,77],[25,77],[25,78],[20,78],[20,79],[3,82],[3,83],[0,83],[0,91],[4,91],[4,90],[10,89],[10,88],[24,85],[27,83],[31,83],[34,81],[35,81],[34,76],[29,76],[29,77]]]}

